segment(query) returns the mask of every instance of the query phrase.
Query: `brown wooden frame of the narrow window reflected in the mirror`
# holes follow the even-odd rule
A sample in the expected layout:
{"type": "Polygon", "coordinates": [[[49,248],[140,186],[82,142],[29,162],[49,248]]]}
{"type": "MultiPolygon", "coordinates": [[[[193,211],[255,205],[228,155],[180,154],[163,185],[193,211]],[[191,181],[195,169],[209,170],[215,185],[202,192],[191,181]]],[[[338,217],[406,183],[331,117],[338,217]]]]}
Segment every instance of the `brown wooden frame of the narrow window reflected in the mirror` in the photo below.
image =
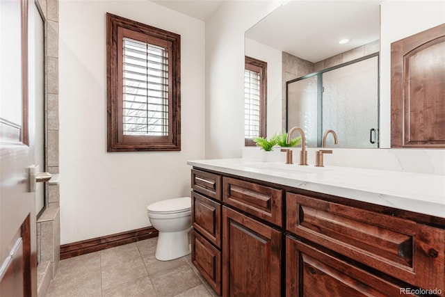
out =
{"type": "MultiPolygon", "coordinates": [[[[267,129],[267,63],[250,56],[245,56],[245,70],[259,72],[260,94],[259,94],[259,137],[266,137],[267,129]]],[[[252,138],[244,138],[245,146],[254,146],[256,143],[252,138]]]]}

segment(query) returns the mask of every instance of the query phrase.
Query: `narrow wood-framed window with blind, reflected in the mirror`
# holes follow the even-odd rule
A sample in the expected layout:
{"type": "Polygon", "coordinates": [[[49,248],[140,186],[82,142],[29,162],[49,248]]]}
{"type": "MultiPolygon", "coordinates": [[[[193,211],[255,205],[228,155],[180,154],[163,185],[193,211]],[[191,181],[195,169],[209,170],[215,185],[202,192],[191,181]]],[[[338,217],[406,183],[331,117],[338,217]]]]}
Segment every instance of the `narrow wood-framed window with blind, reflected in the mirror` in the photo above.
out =
{"type": "Polygon", "coordinates": [[[266,137],[267,63],[245,56],[244,138],[245,145],[255,145],[252,138],[266,137]]]}

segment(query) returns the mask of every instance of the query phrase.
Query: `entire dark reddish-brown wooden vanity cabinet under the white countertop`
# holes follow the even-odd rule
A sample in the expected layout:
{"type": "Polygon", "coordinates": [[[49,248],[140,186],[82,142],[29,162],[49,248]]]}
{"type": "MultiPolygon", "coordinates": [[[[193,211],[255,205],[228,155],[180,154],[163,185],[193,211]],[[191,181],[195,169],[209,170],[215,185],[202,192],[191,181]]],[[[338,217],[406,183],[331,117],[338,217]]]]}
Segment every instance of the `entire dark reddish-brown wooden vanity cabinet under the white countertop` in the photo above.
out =
{"type": "Polygon", "coordinates": [[[218,294],[445,297],[440,218],[196,168],[192,188],[192,261],[218,294]]]}

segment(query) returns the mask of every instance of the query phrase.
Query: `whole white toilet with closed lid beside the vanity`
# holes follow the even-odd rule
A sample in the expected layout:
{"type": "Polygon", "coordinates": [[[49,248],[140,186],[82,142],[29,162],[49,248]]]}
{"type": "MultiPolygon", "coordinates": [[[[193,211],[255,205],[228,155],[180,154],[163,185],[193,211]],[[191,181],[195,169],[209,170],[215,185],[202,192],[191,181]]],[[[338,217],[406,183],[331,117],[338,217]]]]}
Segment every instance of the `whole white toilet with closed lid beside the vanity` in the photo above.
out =
{"type": "Polygon", "coordinates": [[[156,259],[168,261],[190,254],[191,198],[174,198],[147,206],[147,216],[159,231],[156,259]]]}

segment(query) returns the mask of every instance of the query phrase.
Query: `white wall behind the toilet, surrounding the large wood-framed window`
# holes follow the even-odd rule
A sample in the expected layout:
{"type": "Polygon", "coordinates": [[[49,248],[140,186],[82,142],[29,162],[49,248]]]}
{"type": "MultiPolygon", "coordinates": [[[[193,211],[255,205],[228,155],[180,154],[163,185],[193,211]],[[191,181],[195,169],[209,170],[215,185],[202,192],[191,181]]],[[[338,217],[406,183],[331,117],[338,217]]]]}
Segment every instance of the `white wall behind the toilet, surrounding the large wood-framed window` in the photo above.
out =
{"type": "Polygon", "coordinates": [[[190,195],[204,158],[204,22],[152,2],[60,1],[60,227],[71,243],[149,225],[148,204],[190,195]],[[181,35],[181,152],[106,152],[106,12],[181,35]]]}

